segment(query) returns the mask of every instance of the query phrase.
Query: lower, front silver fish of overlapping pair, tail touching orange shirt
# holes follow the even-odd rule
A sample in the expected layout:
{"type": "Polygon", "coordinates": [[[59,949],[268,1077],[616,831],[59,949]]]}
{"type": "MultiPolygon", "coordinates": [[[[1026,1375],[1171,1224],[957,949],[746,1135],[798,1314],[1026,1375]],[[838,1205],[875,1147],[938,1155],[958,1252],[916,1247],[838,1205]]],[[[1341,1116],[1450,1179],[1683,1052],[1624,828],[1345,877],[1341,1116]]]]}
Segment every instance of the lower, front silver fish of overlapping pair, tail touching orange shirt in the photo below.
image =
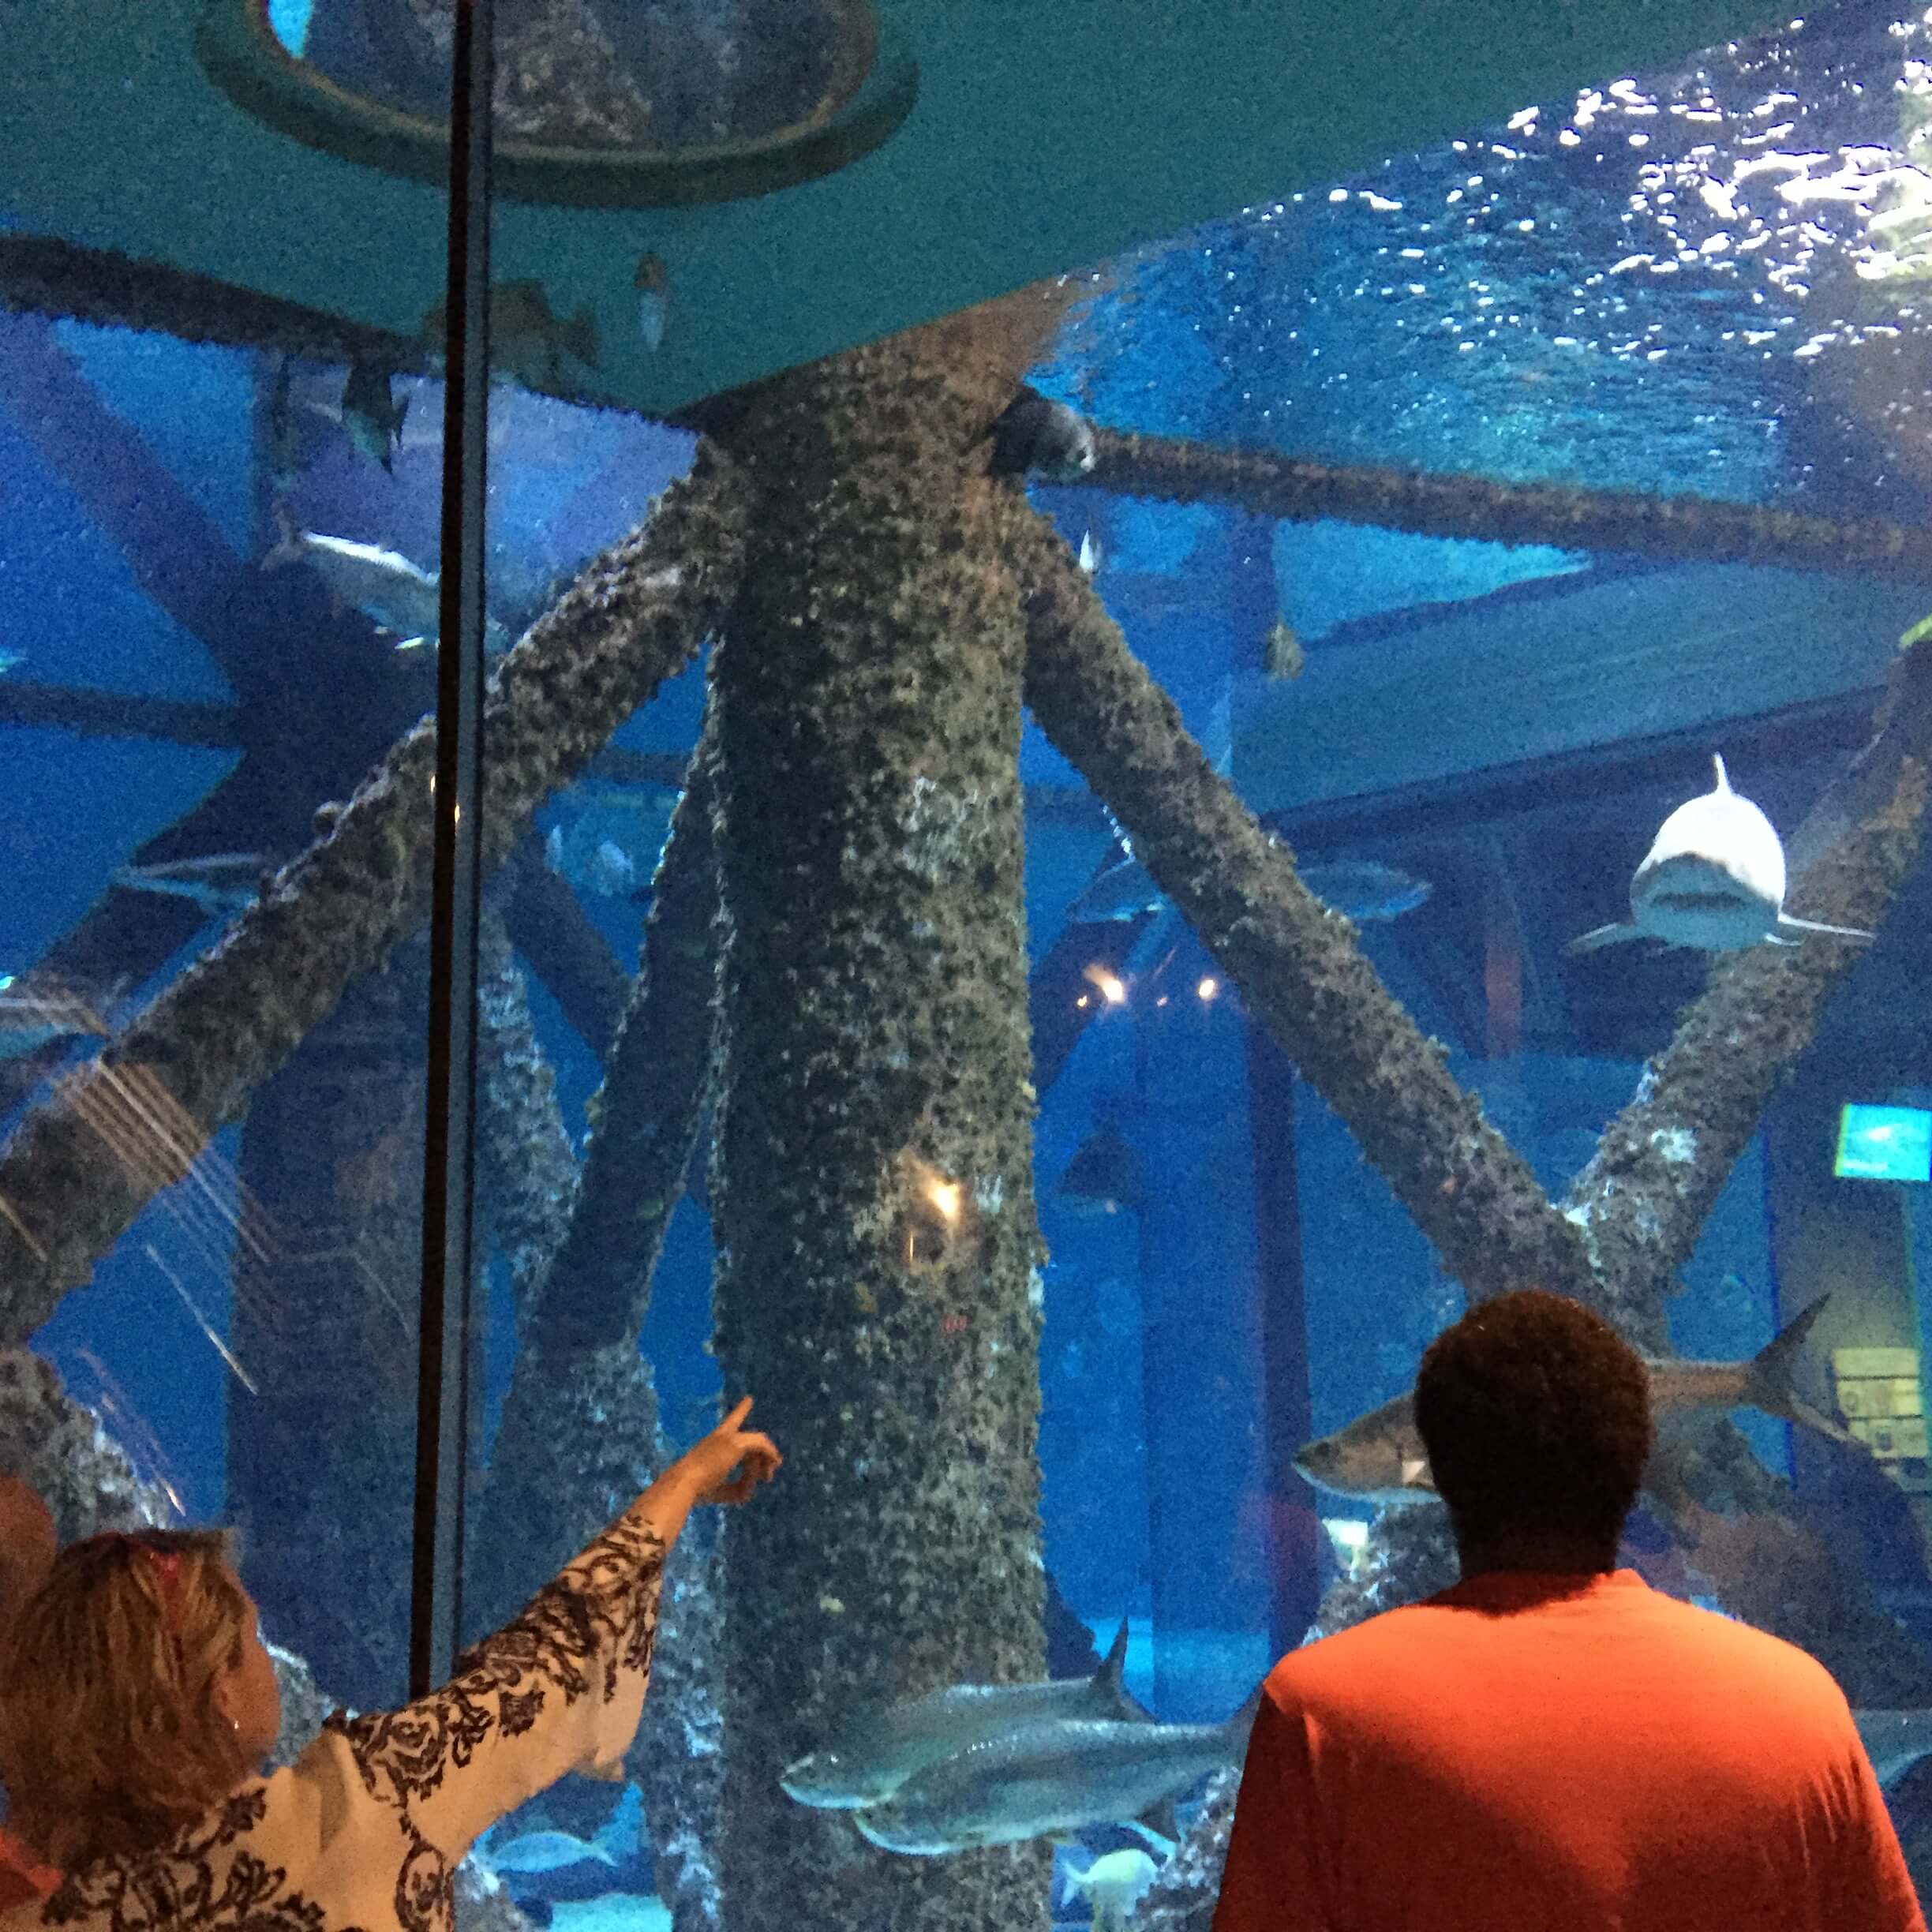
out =
{"type": "Polygon", "coordinates": [[[1036,1719],[927,1764],[852,1822],[873,1845],[939,1857],[1128,1824],[1238,1764],[1262,1692],[1227,1723],[1036,1719]]]}

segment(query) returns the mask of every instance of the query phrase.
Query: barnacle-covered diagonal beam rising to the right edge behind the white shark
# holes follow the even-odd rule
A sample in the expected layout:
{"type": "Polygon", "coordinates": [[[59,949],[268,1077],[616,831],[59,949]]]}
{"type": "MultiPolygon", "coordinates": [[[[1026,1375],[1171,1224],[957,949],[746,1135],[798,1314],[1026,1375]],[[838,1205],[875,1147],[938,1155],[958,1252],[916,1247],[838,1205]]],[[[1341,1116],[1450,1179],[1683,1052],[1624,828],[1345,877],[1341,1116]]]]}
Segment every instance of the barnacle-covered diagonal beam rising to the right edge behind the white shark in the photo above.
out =
{"type": "MultiPolygon", "coordinates": [[[[1932,641],[1895,661],[1876,736],[1795,833],[1795,912],[1866,931],[1884,923],[1918,856],[1928,775],[1932,641]]],[[[1808,937],[1714,962],[1704,995],[1604,1130],[1563,1211],[1627,1333],[1662,1335],[1677,1269],[1862,951],[1808,937]]]]}

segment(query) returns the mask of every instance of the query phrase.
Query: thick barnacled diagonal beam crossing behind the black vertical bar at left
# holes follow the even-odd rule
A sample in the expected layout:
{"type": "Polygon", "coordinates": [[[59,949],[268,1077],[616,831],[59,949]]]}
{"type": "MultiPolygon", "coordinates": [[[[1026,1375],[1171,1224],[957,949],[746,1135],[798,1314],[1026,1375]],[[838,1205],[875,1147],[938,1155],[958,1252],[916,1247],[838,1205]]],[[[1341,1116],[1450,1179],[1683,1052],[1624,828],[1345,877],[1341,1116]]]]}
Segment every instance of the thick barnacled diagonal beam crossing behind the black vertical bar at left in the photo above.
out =
{"type": "MultiPolygon", "coordinates": [[[[483,858],[497,867],[543,798],[682,668],[736,587],[732,468],[692,475],[547,611],[491,680],[483,858]]],[[[357,978],[429,918],[435,721],[410,730],[272,887],[137,1020],[70,1074],[0,1148],[0,1339],[52,1314],[147,1200],[357,978]],[[89,1124],[129,1080],[170,1115],[162,1157],[131,1165],[89,1124]]]]}

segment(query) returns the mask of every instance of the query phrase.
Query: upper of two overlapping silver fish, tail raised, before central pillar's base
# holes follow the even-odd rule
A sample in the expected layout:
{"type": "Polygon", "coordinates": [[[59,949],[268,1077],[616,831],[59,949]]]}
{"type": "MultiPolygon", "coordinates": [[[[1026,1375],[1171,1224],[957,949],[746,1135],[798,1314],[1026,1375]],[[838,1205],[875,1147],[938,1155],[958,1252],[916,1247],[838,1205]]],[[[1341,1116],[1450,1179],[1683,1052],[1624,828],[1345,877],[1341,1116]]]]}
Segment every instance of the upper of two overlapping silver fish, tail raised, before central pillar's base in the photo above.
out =
{"type": "Polygon", "coordinates": [[[1144,1727],[1146,1712],[1126,1694],[1126,1619],[1092,1677],[1032,1685],[947,1685],[860,1719],[779,1777],[786,1797],[819,1810],[860,1810],[889,1799],[908,1777],[974,1750],[1005,1731],[1068,1719],[1144,1727]]]}

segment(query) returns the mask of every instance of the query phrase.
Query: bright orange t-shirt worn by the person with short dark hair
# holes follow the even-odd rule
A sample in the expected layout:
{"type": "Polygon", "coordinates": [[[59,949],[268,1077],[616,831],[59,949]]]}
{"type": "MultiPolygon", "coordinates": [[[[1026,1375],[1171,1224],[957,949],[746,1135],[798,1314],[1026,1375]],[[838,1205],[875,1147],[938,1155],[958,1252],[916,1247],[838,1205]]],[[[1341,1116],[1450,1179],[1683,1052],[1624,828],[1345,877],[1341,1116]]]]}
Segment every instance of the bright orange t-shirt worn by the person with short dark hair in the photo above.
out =
{"type": "Polygon", "coordinates": [[[1490,1573],[1275,1665],[1215,1932],[1924,1932],[1804,1652],[1634,1571],[1490,1573]]]}

